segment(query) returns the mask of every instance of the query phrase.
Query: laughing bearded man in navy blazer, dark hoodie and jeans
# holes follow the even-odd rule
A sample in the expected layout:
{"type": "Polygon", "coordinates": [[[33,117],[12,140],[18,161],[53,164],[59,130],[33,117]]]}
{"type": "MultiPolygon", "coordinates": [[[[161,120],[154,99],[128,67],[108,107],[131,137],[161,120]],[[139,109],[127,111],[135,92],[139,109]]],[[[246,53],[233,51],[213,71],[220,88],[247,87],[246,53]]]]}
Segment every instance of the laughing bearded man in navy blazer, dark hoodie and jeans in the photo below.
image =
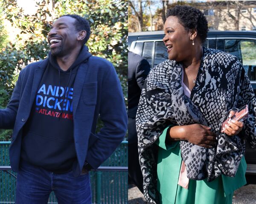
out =
{"type": "Polygon", "coordinates": [[[0,128],[13,128],[17,204],[90,204],[88,171],[122,142],[127,129],[122,88],[113,65],[84,45],[90,25],[78,15],[52,24],[47,59],[20,71],[0,128]],[[104,127],[96,131],[100,115],[104,127]]]}

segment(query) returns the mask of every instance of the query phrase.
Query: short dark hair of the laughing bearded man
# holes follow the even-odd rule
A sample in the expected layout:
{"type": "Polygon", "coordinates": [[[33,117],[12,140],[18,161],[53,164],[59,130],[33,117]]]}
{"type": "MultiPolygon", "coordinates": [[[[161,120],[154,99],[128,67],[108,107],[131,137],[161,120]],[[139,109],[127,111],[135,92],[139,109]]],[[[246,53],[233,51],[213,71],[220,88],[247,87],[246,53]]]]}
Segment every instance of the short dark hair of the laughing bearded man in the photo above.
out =
{"type": "Polygon", "coordinates": [[[75,21],[76,31],[86,31],[86,36],[83,41],[83,45],[84,45],[90,37],[89,22],[86,19],[84,19],[83,17],[76,15],[76,14],[65,14],[65,15],[62,15],[61,17],[64,17],[64,16],[69,16],[69,17],[76,19],[76,21],[75,21]]]}

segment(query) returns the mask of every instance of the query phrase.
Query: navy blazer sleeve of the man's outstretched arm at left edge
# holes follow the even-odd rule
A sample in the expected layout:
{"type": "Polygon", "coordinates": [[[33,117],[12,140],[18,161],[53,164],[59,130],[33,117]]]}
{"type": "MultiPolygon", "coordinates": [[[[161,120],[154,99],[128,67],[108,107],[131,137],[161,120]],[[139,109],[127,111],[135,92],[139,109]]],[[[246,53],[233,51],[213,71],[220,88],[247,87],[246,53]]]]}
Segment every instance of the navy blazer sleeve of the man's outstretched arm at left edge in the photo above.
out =
{"type": "Polygon", "coordinates": [[[12,97],[5,109],[0,109],[0,128],[13,129],[20,103],[20,75],[12,92],[12,97]]]}

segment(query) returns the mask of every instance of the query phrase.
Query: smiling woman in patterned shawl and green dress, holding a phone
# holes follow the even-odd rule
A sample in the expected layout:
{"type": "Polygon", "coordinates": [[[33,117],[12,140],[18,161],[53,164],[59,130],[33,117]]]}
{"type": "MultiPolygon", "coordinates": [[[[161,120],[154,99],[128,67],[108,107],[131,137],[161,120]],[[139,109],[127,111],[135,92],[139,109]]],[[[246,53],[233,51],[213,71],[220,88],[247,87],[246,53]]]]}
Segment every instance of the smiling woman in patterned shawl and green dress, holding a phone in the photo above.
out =
{"type": "Polygon", "coordinates": [[[148,74],[136,116],[148,203],[231,204],[234,190],[246,184],[245,139],[256,147],[256,99],[235,56],[202,46],[207,31],[198,9],[167,11],[169,60],[148,74]],[[231,120],[244,105],[250,119],[231,120]]]}

